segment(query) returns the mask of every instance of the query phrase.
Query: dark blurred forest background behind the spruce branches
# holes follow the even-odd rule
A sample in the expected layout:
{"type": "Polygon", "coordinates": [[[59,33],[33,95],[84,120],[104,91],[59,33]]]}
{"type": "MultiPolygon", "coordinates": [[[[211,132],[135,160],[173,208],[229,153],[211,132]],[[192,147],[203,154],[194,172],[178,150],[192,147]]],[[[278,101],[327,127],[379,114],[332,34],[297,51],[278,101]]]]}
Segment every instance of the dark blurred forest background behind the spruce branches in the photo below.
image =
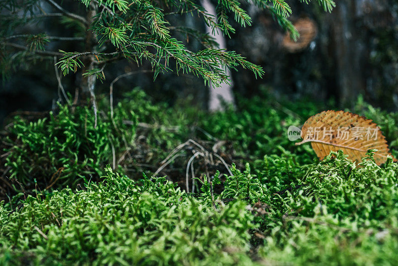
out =
{"type": "MultiPolygon", "coordinates": [[[[310,96],[343,108],[352,106],[361,94],[374,106],[398,111],[397,1],[339,0],[336,4],[331,13],[325,13],[315,1],[309,5],[290,2],[291,20],[310,18],[317,30],[316,37],[295,52],[284,48],[285,33],[269,13],[247,7],[253,24],[246,28],[234,25],[237,30],[226,40],[227,47],[263,66],[266,74],[263,79],[256,80],[249,71],[232,71],[236,97],[256,95],[262,85],[267,85],[275,94],[288,95],[292,100],[310,96]]],[[[196,17],[175,19],[204,30],[196,17]]],[[[58,35],[51,22],[35,27],[58,35]]],[[[79,50],[73,44],[61,45],[69,51],[79,50]]],[[[195,41],[188,45],[194,50],[199,48],[195,41]]],[[[47,49],[57,50],[58,47],[47,49]]],[[[144,64],[138,68],[118,62],[108,68],[103,84],[97,82],[97,92],[107,92],[115,77],[134,69],[150,69],[150,66],[144,64]]],[[[62,78],[65,89],[72,95],[78,79],[79,73],[62,78]]],[[[50,110],[58,99],[57,84],[53,62],[38,61],[33,66],[18,69],[0,84],[0,124],[15,111],[50,110]]],[[[179,98],[192,95],[199,106],[207,108],[208,89],[202,80],[192,75],[177,77],[175,73],[166,73],[155,81],[150,73],[129,76],[115,85],[115,97],[137,86],[156,101],[173,104],[179,98]]]]}

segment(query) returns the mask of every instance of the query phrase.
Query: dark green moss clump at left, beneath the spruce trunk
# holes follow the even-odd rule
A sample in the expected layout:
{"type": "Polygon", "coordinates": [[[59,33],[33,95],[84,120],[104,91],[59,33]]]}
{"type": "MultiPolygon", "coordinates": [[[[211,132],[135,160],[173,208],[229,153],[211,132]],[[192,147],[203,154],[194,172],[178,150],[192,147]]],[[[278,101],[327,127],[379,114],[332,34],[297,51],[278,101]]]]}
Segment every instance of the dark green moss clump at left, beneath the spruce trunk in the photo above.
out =
{"type": "MultiPolygon", "coordinates": [[[[9,178],[16,178],[27,189],[75,187],[79,182],[102,174],[103,166],[125,150],[124,141],[132,143],[134,113],[118,105],[114,127],[109,116],[100,117],[97,128],[88,107],[59,106],[59,113],[49,118],[27,122],[16,117],[6,140],[11,147],[5,166],[9,178]],[[38,186],[38,188],[36,187],[38,186]]],[[[19,188],[17,188],[19,190],[19,188]]]]}

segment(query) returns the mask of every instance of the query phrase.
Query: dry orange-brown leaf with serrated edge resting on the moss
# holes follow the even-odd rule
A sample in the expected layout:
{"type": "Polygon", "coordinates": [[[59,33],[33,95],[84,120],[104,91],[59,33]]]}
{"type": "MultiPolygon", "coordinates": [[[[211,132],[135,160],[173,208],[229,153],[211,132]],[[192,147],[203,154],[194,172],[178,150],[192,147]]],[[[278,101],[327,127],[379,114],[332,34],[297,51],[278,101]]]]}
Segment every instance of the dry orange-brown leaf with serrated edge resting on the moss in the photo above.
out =
{"type": "Polygon", "coordinates": [[[374,156],[377,164],[392,156],[380,128],[372,120],[349,112],[329,110],[310,117],[301,128],[301,137],[296,145],[311,142],[320,160],[339,149],[357,162],[368,149],[378,149],[374,156]]]}

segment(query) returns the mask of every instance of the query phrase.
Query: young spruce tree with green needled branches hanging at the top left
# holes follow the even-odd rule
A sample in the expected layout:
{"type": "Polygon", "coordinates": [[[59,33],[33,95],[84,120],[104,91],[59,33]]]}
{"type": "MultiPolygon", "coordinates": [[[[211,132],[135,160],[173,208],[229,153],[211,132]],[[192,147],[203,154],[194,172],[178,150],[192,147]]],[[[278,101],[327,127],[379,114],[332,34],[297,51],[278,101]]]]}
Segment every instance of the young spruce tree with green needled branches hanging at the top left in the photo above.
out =
{"type": "MultiPolygon", "coordinates": [[[[284,0],[244,2],[269,10],[293,39],[298,37],[287,19],[292,10],[284,0]]],[[[318,2],[327,11],[335,6],[333,0],[318,2]]],[[[90,99],[95,111],[96,80],[104,80],[106,66],[122,59],[138,65],[143,60],[150,62],[155,78],[159,73],[175,69],[202,77],[205,83],[211,82],[215,87],[228,82],[226,68],[242,66],[261,77],[264,74],[261,67],[234,51],[219,49],[208,33],[174,26],[168,19],[185,13],[198,15],[213,32],[220,30],[228,37],[235,31],[231,15],[239,25],[251,25],[251,17],[238,0],[218,1],[215,12],[209,14],[192,0],[0,0],[0,70],[6,77],[18,66],[37,60],[55,60],[64,75],[81,70],[79,98],[75,99],[83,103],[90,99]],[[73,36],[51,36],[48,32],[36,32],[34,27],[25,27],[26,33],[18,31],[23,25],[48,17],[59,18],[55,21],[65,29],[73,28],[73,36]],[[189,50],[185,44],[188,36],[198,39],[202,47],[189,50]],[[55,41],[58,42],[53,44],[55,41]],[[67,41],[78,42],[81,50],[61,50],[60,43],[67,41]]],[[[62,90],[58,71],[56,74],[62,90]]]]}

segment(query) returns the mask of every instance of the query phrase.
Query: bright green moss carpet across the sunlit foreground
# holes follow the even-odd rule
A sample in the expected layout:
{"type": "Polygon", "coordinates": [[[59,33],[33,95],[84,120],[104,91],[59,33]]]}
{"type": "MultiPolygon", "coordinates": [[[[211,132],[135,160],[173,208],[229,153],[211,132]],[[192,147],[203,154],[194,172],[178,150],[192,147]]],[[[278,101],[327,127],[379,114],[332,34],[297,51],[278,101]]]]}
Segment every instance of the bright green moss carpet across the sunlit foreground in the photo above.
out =
{"type": "MultiPolygon", "coordinates": [[[[286,161],[273,159],[274,165],[286,161]]],[[[269,180],[253,178],[248,165],[243,173],[233,167],[225,190],[215,197],[246,197],[248,185],[253,196],[247,203],[217,203],[216,209],[208,204],[208,186],[193,198],[165,178],[150,181],[144,175],[137,182],[107,167],[101,183],[83,190],[29,196],[16,210],[1,204],[0,261],[394,265],[398,165],[391,160],[376,165],[372,151],[361,165],[332,152],[295,176],[280,172],[269,180]],[[273,184],[288,181],[300,187],[274,191],[273,184]]],[[[267,169],[255,171],[260,170],[267,169]]]]}

